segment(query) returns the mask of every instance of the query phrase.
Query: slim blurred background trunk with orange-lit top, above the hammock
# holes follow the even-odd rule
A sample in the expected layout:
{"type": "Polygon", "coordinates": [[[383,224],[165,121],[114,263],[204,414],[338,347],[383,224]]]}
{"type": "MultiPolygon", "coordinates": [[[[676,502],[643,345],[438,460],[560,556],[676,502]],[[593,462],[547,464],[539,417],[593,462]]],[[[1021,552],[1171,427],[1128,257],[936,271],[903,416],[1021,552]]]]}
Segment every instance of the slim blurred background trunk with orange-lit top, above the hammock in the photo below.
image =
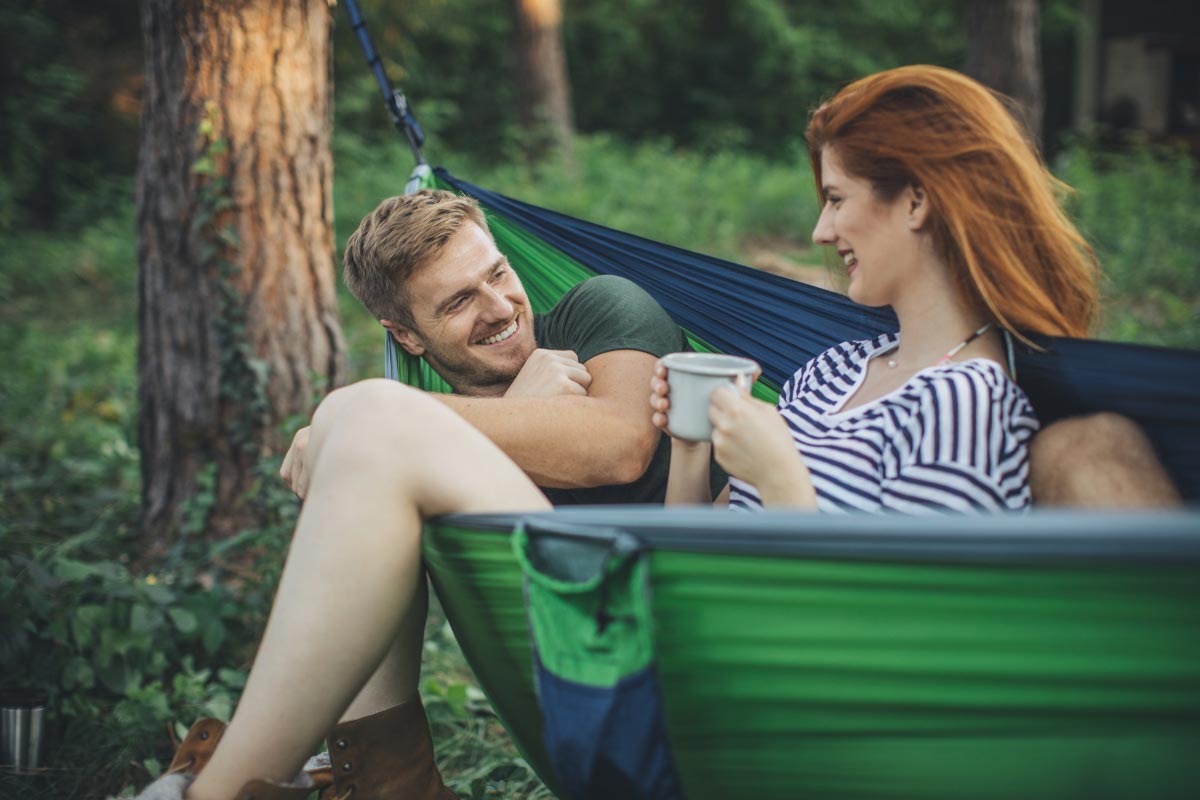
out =
{"type": "Polygon", "coordinates": [[[526,155],[571,152],[575,124],[563,49],[562,0],[514,0],[516,11],[517,114],[526,155]]]}

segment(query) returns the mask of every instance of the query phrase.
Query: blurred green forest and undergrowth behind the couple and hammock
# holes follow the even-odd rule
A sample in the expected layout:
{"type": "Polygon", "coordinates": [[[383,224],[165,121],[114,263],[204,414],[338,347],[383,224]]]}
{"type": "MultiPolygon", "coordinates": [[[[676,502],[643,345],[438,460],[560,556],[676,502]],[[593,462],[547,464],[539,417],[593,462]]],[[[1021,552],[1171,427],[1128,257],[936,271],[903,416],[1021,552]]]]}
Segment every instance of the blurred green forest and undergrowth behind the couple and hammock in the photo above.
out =
{"type": "MultiPolygon", "coordinates": [[[[492,190],[652,239],[824,281],[803,146],[809,109],[856,77],[961,68],[955,0],[568,1],[577,133],[569,164],[527,157],[512,16],[491,0],[364,0],[376,46],[428,136],[432,163],[492,190]]],[[[1076,8],[1042,4],[1045,155],[1104,267],[1105,338],[1200,347],[1200,184],[1187,151],[1069,131],[1076,8]]],[[[228,717],[269,609],[296,501],[260,464],[262,524],[214,541],[212,475],[184,536],[137,535],[134,168],[143,89],[127,0],[0,10],[0,688],[53,709],[40,776],[0,795],[103,796],[169,754],[164,732],[228,717]]],[[[335,16],[334,215],[403,188],[412,155],[335,16]]],[[[349,377],[377,374],[378,326],[344,290],[349,377]]],[[[319,396],[312,398],[313,402],[319,396]]],[[[294,415],[278,440],[304,423],[294,415]]],[[[205,483],[208,481],[208,483],[205,483]]],[[[545,796],[508,745],[434,610],[424,691],[462,796],[545,796]]]]}

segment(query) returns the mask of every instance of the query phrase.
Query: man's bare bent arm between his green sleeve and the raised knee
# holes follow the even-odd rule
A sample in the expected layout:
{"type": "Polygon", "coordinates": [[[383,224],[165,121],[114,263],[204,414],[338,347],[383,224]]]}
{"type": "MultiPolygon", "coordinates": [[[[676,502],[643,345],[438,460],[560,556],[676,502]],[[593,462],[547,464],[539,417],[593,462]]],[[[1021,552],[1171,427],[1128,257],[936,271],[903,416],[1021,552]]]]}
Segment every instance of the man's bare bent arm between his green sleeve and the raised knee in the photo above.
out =
{"type": "Polygon", "coordinates": [[[656,359],[613,350],[588,359],[587,395],[438,399],[479,428],[539,486],[580,488],[641,477],[659,441],[646,403],[656,359]]]}

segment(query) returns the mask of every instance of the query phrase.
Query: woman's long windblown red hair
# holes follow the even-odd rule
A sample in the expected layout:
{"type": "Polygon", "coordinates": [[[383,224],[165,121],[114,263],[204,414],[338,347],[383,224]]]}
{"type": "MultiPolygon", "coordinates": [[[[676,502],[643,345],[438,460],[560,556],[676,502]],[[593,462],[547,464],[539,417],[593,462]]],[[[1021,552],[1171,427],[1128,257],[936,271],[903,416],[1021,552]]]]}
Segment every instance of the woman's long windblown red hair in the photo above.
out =
{"type": "Polygon", "coordinates": [[[1069,187],[989,89],[941,67],[880,72],[817,108],[806,136],[818,192],[826,148],[884,199],[924,190],[965,301],[1014,333],[1087,335],[1098,267],[1058,203],[1069,187]]]}

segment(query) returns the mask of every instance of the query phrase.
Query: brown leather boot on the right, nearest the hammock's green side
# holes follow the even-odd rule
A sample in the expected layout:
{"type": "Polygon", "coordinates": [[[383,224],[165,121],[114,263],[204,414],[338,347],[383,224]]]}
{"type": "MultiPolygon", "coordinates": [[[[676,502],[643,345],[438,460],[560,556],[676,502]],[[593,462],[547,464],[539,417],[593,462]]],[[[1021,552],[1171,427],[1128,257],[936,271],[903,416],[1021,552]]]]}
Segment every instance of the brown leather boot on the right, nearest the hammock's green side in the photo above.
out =
{"type": "Polygon", "coordinates": [[[320,800],[457,800],[433,763],[420,698],[343,722],[328,744],[329,764],[308,770],[320,800]]]}

